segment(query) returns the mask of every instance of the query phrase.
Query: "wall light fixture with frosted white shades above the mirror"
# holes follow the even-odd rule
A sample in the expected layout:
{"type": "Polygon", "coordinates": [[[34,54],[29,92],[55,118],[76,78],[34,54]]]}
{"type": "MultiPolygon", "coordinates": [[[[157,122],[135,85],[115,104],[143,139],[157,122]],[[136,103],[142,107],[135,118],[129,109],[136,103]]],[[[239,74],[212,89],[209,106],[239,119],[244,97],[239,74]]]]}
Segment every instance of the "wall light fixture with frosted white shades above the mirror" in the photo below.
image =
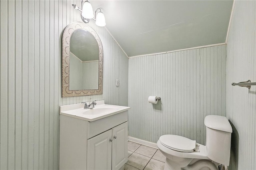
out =
{"type": "Polygon", "coordinates": [[[93,18],[94,14],[93,14],[93,10],[92,10],[92,5],[90,4],[90,2],[88,0],[86,0],[84,2],[84,5],[83,5],[83,0],[81,1],[82,9],[80,9],[76,4],[72,4],[72,6],[74,7],[75,10],[78,10],[81,12],[81,19],[84,23],[88,23],[88,22],[90,22],[90,19],[93,19],[96,21],[95,24],[97,26],[100,26],[100,27],[106,26],[105,16],[101,12],[100,8],[97,8],[95,10],[95,16],[96,16],[97,10],[100,10],[96,16],[96,19],[93,18]]]}

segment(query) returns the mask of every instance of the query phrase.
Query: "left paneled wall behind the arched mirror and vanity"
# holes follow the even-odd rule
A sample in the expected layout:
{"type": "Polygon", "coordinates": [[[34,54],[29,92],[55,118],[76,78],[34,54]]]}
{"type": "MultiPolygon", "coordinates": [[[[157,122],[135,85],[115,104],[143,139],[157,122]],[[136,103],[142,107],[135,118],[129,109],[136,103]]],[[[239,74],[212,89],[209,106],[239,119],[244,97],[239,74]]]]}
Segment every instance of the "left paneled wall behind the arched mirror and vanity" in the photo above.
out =
{"type": "MultiPolygon", "coordinates": [[[[59,106],[105,99],[128,105],[128,58],[105,28],[103,95],[61,98],[64,28],[80,0],[0,1],[0,169],[58,169],[59,106]],[[120,86],[115,86],[115,79],[120,86]]],[[[94,7],[96,8],[96,7],[94,7]]]]}

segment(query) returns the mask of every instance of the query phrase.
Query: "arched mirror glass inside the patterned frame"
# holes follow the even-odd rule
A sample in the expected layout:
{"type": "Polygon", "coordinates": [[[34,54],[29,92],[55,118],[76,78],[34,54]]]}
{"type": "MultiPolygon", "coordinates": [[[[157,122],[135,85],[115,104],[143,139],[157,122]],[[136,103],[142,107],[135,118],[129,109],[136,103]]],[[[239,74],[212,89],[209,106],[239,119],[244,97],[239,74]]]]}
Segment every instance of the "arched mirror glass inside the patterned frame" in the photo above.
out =
{"type": "Polygon", "coordinates": [[[98,89],[99,46],[92,34],[76,30],[70,38],[70,90],[98,89]]]}

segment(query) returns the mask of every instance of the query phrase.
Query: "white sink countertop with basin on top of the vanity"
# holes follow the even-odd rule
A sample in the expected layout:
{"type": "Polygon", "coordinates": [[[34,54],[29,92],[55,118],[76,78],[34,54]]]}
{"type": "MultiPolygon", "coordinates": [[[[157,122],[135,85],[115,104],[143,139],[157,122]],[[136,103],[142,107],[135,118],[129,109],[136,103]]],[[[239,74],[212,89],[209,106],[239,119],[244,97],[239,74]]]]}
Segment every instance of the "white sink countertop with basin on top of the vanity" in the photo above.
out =
{"type": "Polygon", "coordinates": [[[60,106],[60,114],[91,122],[130,109],[125,106],[106,105],[104,100],[96,101],[96,103],[97,105],[92,109],[84,109],[83,103],[60,106]]]}

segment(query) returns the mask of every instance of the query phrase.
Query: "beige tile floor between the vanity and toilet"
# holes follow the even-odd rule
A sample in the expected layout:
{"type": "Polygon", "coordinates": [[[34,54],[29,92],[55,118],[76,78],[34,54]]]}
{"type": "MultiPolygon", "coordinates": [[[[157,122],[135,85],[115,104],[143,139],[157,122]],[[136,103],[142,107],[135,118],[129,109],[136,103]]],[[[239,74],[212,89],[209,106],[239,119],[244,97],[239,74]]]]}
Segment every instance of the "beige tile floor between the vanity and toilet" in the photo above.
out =
{"type": "Polygon", "coordinates": [[[124,170],[163,170],[165,156],[157,149],[128,141],[128,161],[124,170]]]}

